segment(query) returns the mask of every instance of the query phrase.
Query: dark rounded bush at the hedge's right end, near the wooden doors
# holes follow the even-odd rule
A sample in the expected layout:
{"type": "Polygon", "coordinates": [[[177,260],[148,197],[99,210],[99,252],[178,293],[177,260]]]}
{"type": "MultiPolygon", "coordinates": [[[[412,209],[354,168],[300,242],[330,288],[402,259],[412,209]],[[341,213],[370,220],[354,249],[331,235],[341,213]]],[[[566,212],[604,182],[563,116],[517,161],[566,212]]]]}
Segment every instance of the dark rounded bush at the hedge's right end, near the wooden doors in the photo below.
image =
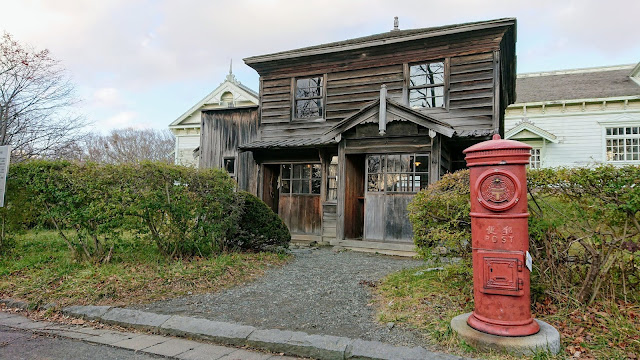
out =
{"type": "Polygon", "coordinates": [[[245,250],[286,249],[291,233],[284,221],[267,204],[252,194],[238,192],[242,215],[232,245],[245,250]]]}

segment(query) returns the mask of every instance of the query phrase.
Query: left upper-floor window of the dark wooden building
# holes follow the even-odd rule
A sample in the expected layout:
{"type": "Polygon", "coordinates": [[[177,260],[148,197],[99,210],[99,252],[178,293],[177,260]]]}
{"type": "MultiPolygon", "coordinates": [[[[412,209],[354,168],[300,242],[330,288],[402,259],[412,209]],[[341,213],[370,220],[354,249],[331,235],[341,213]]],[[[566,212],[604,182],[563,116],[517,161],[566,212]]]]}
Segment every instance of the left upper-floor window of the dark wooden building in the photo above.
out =
{"type": "Polygon", "coordinates": [[[294,94],[294,118],[319,118],[323,116],[323,77],[296,79],[294,94]]]}

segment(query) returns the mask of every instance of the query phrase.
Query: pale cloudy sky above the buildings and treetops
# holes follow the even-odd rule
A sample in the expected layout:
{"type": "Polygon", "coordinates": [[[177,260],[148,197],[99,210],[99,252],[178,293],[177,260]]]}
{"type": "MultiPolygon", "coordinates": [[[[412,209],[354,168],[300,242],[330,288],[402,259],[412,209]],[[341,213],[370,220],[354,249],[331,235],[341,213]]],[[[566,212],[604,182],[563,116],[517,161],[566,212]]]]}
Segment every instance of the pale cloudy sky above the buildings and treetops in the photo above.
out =
{"type": "Polygon", "coordinates": [[[78,77],[106,74],[112,83],[100,86],[135,90],[217,80],[231,58],[238,71],[249,71],[240,70],[240,58],[388,31],[393,16],[401,28],[517,16],[525,54],[623,53],[636,43],[632,14],[640,11],[640,2],[623,0],[6,2],[3,13],[12,15],[0,15],[0,23],[9,31],[52,48],[78,77]]]}

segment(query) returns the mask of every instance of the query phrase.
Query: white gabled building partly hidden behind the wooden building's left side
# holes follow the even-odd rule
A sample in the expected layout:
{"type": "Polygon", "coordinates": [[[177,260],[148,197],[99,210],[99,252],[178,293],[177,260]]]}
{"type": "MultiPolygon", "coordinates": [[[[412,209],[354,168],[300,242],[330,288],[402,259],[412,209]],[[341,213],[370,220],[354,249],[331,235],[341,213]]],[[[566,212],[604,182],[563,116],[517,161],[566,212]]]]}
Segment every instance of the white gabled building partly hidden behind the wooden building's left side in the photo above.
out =
{"type": "Polygon", "coordinates": [[[174,159],[178,165],[198,167],[202,112],[258,105],[258,93],[241,84],[231,69],[222,84],[169,125],[176,137],[174,159]]]}

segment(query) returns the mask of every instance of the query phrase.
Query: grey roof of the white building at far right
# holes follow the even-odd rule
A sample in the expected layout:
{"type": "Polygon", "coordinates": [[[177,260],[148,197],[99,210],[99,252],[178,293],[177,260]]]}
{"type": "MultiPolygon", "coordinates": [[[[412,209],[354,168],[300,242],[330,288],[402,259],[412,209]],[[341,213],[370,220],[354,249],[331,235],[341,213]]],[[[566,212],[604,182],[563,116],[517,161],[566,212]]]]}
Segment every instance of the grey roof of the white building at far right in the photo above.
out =
{"type": "Polygon", "coordinates": [[[634,72],[640,72],[640,64],[635,68],[631,64],[520,74],[516,79],[516,104],[639,96],[640,84],[632,79],[634,72]]]}

